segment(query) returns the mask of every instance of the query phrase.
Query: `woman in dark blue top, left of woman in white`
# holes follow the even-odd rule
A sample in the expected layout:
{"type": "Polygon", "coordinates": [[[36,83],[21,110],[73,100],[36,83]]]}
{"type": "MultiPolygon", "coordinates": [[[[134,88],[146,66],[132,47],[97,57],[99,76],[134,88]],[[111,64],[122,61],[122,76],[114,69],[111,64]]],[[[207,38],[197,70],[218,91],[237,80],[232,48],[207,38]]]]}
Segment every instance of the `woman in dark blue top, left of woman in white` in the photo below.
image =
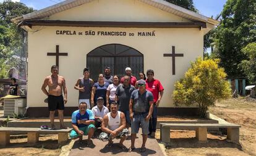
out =
{"type": "Polygon", "coordinates": [[[108,88],[108,86],[109,84],[104,80],[104,75],[100,73],[98,77],[98,82],[93,84],[93,88],[92,88],[92,96],[91,96],[92,106],[97,105],[96,101],[98,97],[103,97],[104,105],[106,106],[106,89],[108,88]]]}

